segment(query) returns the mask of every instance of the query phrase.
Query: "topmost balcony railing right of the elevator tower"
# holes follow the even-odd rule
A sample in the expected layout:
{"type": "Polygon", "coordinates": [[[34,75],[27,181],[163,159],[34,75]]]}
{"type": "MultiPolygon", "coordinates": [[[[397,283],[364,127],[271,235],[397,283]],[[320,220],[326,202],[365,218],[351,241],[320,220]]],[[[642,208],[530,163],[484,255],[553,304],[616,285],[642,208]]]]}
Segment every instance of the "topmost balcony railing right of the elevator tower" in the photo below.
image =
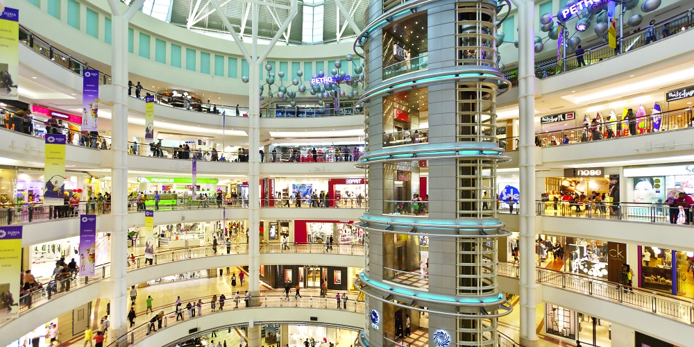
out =
{"type": "MultiPolygon", "coordinates": [[[[661,40],[666,37],[676,35],[677,33],[681,33],[682,31],[686,31],[688,28],[691,28],[694,25],[693,18],[694,11],[690,9],[687,12],[676,15],[675,17],[671,17],[670,19],[666,19],[654,26],[654,35],[657,40],[661,40]]],[[[622,52],[621,54],[629,53],[634,51],[634,49],[658,42],[657,40],[647,40],[646,31],[639,31],[631,35],[625,35],[623,40],[618,39],[617,49],[611,48],[609,44],[600,44],[598,46],[585,49],[583,59],[586,65],[598,64],[599,62],[602,62],[602,60],[612,58],[613,56],[618,56],[620,52],[622,52]],[[623,46],[621,49],[620,42],[623,46]]],[[[546,78],[582,67],[579,65],[578,57],[575,54],[567,56],[563,65],[564,67],[562,67],[560,70],[556,58],[536,62],[535,76],[537,78],[546,78]]],[[[505,71],[504,75],[514,86],[518,85],[517,68],[505,71]]]]}

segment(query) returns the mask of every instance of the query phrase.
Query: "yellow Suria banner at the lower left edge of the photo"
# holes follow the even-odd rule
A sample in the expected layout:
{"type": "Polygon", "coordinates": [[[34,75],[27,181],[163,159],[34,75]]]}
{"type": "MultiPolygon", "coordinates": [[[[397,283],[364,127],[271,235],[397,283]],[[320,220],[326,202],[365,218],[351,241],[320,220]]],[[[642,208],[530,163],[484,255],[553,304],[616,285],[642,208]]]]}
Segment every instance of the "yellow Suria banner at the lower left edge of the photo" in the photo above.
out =
{"type": "Polygon", "coordinates": [[[0,228],[0,319],[19,316],[22,226],[0,228]]]}

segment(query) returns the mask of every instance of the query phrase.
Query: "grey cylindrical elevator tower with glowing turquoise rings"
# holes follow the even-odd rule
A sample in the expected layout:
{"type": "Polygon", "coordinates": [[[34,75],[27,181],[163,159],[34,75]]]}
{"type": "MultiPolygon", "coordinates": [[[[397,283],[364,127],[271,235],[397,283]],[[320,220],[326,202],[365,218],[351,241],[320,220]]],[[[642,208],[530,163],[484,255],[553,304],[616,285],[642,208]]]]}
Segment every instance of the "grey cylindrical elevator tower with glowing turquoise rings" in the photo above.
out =
{"type": "Polygon", "coordinates": [[[498,346],[496,1],[372,1],[357,37],[367,85],[363,344],[498,346]]]}

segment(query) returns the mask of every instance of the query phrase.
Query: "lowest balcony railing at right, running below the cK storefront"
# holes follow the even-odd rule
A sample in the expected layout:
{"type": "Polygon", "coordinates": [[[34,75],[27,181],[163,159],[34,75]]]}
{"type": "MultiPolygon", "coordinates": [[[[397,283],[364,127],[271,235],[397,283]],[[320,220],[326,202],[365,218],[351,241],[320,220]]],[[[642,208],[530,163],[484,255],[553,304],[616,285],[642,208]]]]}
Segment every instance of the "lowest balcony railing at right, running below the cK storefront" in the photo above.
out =
{"type": "MultiPolygon", "coordinates": [[[[500,263],[498,270],[501,276],[512,278],[518,278],[520,273],[518,265],[513,263],[500,263]]],[[[608,282],[575,273],[536,269],[536,274],[537,282],[543,285],[594,296],[636,310],[694,325],[694,301],[692,300],[641,288],[626,287],[616,282],[608,282]]]]}

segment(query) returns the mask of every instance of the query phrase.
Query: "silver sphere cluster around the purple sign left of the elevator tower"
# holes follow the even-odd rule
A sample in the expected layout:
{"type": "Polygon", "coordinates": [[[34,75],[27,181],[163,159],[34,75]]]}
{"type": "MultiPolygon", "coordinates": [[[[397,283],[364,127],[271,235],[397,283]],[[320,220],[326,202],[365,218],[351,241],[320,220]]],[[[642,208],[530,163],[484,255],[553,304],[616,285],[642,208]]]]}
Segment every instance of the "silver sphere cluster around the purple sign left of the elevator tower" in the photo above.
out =
{"type": "MultiPolygon", "coordinates": [[[[270,101],[279,99],[280,101],[289,101],[289,105],[296,106],[294,99],[306,92],[316,96],[317,103],[321,106],[325,105],[324,99],[328,98],[347,97],[348,99],[355,99],[359,96],[359,85],[364,86],[364,62],[362,65],[357,65],[351,54],[346,55],[345,59],[352,65],[353,74],[351,75],[346,71],[347,67],[343,68],[341,60],[335,60],[333,62],[335,67],[330,69],[328,76],[323,70],[320,70],[311,78],[308,76],[303,78],[303,71],[298,70],[296,71],[296,78],[291,78],[291,81],[289,81],[290,76],[287,76],[288,85],[285,85],[285,76],[287,75],[285,71],[274,72],[273,66],[266,64],[267,76],[265,83],[260,85],[260,100],[262,101],[265,96],[268,96],[270,101]]],[[[242,76],[241,81],[248,83],[250,78],[242,76]]]]}

